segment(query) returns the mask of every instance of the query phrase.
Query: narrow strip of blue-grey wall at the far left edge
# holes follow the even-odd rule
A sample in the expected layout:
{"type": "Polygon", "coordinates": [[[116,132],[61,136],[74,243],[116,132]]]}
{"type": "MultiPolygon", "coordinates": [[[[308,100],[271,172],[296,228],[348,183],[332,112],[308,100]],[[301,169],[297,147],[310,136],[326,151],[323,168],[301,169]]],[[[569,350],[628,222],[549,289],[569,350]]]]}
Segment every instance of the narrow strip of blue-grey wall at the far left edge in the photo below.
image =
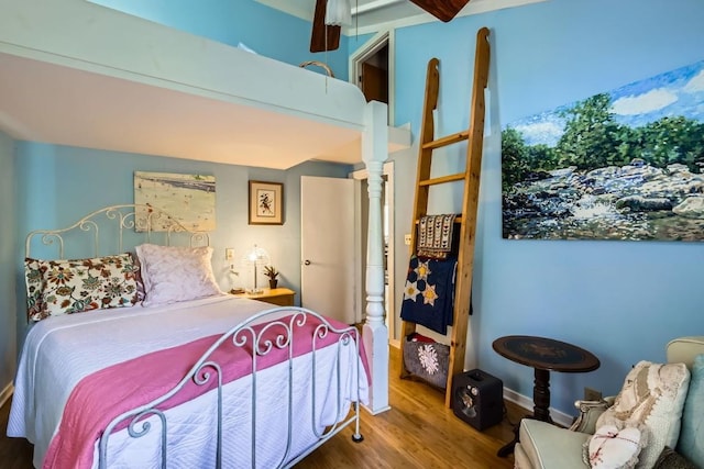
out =
{"type": "Polygon", "coordinates": [[[15,365],[15,253],[14,235],[14,143],[0,132],[0,404],[7,398],[6,386],[14,378],[15,365]]]}

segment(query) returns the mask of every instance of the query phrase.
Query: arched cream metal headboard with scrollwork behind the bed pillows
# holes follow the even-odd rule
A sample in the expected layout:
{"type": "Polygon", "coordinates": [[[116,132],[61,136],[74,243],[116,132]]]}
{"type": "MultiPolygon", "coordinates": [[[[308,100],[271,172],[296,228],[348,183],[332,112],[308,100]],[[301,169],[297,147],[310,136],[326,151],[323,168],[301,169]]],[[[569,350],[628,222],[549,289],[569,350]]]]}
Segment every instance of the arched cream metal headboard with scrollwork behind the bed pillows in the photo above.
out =
{"type": "Polygon", "coordinates": [[[58,230],[35,230],[26,235],[25,257],[42,247],[43,258],[98,257],[123,253],[142,243],[165,246],[209,246],[207,232],[188,230],[173,215],[147,204],[110,205],[58,230]],[[75,248],[73,248],[75,246],[75,248]],[[78,252],[77,249],[80,249],[78,252]]]}

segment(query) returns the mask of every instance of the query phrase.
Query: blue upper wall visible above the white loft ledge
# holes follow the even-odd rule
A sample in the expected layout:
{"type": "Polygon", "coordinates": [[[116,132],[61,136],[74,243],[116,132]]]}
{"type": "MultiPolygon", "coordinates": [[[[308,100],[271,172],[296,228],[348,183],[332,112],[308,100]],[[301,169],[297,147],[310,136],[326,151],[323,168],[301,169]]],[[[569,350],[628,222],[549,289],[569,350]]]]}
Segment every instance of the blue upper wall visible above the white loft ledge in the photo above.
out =
{"type": "MultiPolygon", "coordinates": [[[[311,54],[310,23],[254,0],[90,0],[160,24],[224,44],[242,43],[257,54],[299,65],[320,60],[336,77],[348,76],[345,36],[340,48],[311,54]]],[[[310,70],[321,71],[318,67],[310,70]]]]}

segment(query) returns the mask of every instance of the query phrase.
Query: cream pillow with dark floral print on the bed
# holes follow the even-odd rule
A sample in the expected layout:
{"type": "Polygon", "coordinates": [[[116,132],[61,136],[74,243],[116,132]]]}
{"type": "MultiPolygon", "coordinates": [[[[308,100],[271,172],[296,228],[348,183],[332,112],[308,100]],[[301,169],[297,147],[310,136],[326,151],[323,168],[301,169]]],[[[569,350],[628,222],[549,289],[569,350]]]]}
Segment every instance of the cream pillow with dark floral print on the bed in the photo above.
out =
{"type": "MultiPolygon", "coordinates": [[[[131,306],[138,301],[132,256],[96,257],[74,260],[30,260],[25,263],[28,291],[41,288],[38,312],[31,319],[131,306]],[[41,278],[36,278],[36,272],[41,278]],[[32,286],[32,287],[30,287],[32,286]]],[[[30,299],[28,299],[28,302],[30,299]]]]}

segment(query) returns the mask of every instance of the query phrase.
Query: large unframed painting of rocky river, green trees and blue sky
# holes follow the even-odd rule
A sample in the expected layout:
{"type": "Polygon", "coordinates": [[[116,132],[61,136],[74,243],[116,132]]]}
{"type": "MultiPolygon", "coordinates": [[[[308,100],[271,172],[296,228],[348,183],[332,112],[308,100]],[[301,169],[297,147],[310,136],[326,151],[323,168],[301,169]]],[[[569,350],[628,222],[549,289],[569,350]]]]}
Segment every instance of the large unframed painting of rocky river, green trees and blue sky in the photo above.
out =
{"type": "Polygon", "coordinates": [[[503,236],[704,241],[704,60],[502,131],[503,236]]]}

